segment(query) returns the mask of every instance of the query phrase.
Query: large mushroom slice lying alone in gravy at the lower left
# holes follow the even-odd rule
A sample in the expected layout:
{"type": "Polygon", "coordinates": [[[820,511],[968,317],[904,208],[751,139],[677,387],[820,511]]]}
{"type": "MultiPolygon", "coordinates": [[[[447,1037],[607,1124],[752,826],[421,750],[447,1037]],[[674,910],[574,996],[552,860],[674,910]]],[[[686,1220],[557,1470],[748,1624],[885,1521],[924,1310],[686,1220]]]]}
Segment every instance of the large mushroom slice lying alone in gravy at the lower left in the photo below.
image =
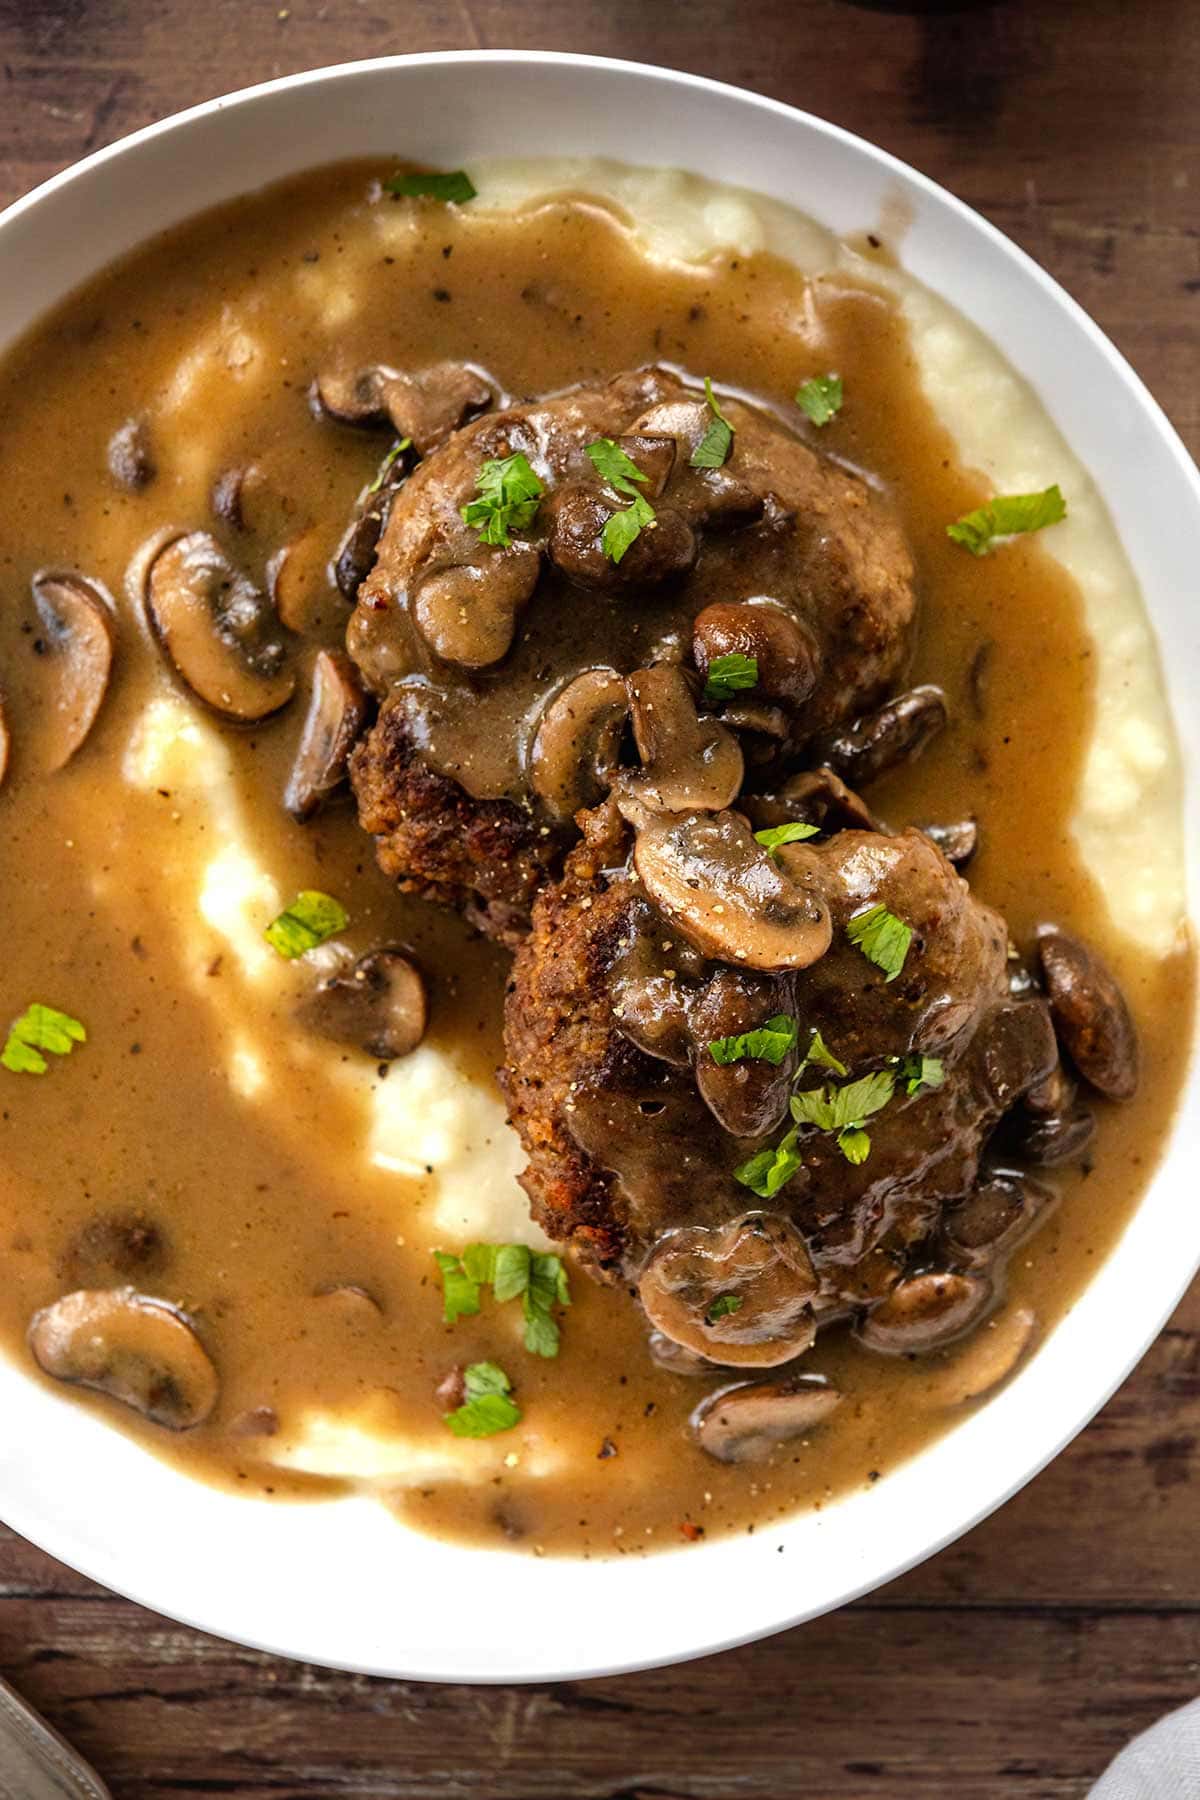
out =
{"type": "Polygon", "coordinates": [[[29,1348],[56,1381],[97,1388],[167,1431],[212,1413],[218,1375],[178,1307],[131,1287],[79,1289],[36,1312],[29,1348]]]}

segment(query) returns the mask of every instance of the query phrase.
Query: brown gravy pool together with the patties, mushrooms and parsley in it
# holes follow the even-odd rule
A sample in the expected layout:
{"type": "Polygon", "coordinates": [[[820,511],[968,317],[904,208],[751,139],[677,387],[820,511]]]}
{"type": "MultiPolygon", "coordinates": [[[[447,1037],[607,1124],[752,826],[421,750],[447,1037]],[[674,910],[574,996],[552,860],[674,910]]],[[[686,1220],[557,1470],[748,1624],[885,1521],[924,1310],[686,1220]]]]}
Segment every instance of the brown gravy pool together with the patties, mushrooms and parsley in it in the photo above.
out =
{"type": "Polygon", "coordinates": [[[1051,554],[1078,464],[959,464],[880,247],[392,173],[205,214],[0,367],[0,1332],[248,1492],[761,1528],[995,1391],[1135,1206],[1169,727],[1051,554]],[[1097,709],[1166,745],[1135,918],[1097,709]]]}

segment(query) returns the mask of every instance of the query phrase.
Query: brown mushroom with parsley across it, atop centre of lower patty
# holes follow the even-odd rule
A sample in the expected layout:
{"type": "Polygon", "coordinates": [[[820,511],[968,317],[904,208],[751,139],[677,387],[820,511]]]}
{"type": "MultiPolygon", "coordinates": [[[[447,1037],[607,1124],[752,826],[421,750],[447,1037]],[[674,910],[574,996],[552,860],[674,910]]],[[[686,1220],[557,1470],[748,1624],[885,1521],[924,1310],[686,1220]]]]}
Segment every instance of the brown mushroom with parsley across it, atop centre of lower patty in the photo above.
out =
{"type": "Polygon", "coordinates": [[[718,968],[691,1008],[696,1087],[712,1118],[734,1138],[765,1138],[788,1111],[795,1055],[716,1062],[709,1044],[754,1031],[788,1003],[779,983],[747,968],[718,968]]]}

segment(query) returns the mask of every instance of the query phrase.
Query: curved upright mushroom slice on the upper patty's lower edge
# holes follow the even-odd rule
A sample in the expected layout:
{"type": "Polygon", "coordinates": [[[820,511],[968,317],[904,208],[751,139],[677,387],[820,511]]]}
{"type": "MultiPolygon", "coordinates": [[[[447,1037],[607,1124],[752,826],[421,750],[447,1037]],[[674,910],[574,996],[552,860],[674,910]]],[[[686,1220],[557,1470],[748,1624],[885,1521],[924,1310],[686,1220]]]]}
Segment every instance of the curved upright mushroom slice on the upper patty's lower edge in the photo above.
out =
{"type": "Polygon", "coordinates": [[[624,677],[585,670],[545,704],[529,752],[529,785],[554,819],[574,819],[612,787],[630,711],[624,677]]]}

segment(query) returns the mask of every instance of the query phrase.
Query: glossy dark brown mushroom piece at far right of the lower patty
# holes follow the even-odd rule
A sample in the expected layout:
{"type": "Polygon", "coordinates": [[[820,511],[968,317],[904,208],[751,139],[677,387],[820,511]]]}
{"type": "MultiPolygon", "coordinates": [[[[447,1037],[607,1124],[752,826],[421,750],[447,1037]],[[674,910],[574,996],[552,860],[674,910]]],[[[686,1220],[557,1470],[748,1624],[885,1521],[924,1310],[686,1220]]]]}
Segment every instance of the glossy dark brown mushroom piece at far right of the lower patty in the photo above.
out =
{"type": "Polygon", "coordinates": [[[1137,1093],[1137,1028],[1105,963],[1052,925],[1038,932],[1042,979],[1054,1030],[1076,1069],[1108,1100],[1137,1093]]]}

